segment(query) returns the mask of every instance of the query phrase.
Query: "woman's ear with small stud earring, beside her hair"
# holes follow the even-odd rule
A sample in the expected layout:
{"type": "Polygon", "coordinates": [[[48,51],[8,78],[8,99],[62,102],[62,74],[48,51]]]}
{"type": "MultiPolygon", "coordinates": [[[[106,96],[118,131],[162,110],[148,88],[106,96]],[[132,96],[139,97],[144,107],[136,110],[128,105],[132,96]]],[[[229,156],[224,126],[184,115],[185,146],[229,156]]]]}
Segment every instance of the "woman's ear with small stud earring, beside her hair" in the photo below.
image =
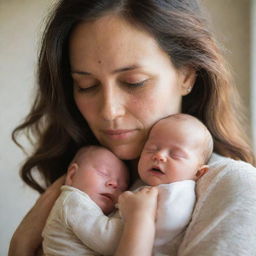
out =
{"type": "Polygon", "coordinates": [[[179,69],[180,75],[180,86],[181,86],[181,95],[188,95],[195,84],[196,81],[196,71],[190,67],[182,67],[179,69]]]}

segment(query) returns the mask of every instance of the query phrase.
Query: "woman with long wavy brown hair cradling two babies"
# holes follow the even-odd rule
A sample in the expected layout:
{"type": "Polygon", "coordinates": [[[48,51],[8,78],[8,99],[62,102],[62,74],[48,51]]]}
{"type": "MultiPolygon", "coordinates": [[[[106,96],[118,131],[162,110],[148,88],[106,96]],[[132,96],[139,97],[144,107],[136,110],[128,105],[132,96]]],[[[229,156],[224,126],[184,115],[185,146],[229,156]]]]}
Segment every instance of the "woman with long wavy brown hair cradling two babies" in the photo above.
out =
{"type": "Polygon", "coordinates": [[[63,182],[57,178],[78,148],[106,146],[127,160],[135,179],[151,126],[178,112],[208,127],[217,154],[198,183],[194,215],[176,253],[256,253],[256,172],[245,163],[254,164],[254,157],[196,0],[60,1],[46,27],[38,81],[32,110],[13,136],[24,129],[36,136],[21,175],[42,193],[33,178],[37,168],[48,188],[16,230],[9,255],[35,255],[63,182]]]}

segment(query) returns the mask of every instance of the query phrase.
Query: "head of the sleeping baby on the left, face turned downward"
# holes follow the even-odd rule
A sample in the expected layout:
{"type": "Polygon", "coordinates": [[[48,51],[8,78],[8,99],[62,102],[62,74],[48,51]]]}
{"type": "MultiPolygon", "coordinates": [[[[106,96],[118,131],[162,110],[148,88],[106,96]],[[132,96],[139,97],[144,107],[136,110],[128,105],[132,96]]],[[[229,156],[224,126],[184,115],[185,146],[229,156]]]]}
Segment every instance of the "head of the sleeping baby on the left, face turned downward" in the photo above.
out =
{"type": "Polygon", "coordinates": [[[66,178],[66,185],[87,193],[105,214],[114,209],[128,183],[125,164],[111,151],[98,146],[81,148],[69,165],[66,178]]]}

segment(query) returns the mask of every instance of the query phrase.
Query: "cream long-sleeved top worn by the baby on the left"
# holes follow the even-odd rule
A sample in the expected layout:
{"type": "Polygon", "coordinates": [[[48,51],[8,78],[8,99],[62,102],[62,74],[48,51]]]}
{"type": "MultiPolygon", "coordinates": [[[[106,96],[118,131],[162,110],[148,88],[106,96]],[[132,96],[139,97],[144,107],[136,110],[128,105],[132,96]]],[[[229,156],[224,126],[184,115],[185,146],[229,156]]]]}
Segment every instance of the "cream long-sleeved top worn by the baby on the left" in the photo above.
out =
{"type": "Polygon", "coordinates": [[[105,216],[86,193],[76,188],[62,186],[61,190],[43,230],[44,254],[112,255],[113,245],[122,234],[122,220],[105,216]]]}

